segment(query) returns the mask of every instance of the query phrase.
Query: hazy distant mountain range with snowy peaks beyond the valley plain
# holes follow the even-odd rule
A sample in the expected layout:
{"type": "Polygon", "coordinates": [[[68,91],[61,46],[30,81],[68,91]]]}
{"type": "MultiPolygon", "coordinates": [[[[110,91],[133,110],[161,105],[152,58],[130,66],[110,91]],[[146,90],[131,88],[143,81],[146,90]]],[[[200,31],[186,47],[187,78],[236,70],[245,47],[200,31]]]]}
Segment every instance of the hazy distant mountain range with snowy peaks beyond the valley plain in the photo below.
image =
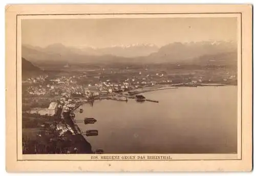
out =
{"type": "Polygon", "coordinates": [[[174,42],[157,48],[152,44],[109,48],[71,48],[55,43],[46,48],[22,46],[22,56],[40,65],[54,63],[236,63],[237,43],[232,41],[174,42]],[[226,61],[223,61],[226,60],[226,61]]]}

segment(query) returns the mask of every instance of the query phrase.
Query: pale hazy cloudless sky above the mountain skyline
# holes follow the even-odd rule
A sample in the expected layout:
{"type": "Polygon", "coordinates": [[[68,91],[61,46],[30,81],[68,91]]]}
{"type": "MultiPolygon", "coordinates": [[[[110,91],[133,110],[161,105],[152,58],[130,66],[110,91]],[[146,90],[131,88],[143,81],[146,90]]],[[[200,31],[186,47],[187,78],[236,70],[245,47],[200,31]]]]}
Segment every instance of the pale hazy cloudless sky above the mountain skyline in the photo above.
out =
{"type": "Polygon", "coordinates": [[[202,40],[237,41],[237,18],[23,19],[22,43],[47,47],[104,48],[114,45],[202,40]]]}

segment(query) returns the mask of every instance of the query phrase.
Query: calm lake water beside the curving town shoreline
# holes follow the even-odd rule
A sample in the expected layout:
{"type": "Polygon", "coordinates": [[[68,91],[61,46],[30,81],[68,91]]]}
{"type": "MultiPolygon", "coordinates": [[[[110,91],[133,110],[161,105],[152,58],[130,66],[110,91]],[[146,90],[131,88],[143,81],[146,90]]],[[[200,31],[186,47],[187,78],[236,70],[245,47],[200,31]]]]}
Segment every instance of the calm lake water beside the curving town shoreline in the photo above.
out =
{"type": "Polygon", "coordinates": [[[94,117],[86,137],[104,153],[236,153],[237,86],[179,87],[143,93],[154,102],[101,100],[76,119],[94,117]]]}

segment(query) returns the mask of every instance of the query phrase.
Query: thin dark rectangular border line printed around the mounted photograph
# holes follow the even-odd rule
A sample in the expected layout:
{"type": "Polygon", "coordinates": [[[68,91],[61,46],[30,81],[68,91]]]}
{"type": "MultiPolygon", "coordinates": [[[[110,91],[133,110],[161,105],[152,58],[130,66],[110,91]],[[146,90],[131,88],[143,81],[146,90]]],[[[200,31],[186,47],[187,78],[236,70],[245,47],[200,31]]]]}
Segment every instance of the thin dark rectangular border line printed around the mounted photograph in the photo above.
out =
{"type": "MultiPolygon", "coordinates": [[[[17,103],[17,21],[18,21],[18,16],[39,16],[39,15],[160,15],[160,14],[240,14],[240,26],[241,26],[241,30],[240,30],[240,33],[241,33],[241,156],[240,156],[240,159],[218,159],[218,160],[222,160],[222,161],[233,161],[233,160],[242,160],[242,141],[243,141],[243,135],[242,135],[242,131],[243,131],[243,120],[242,120],[242,92],[243,92],[243,81],[242,81],[242,71],[243,71],[243,66],[242,66],[242,45],[243,45],[243,42],[242,42],[242,12],[237,12],[237,13],[234,13],[234,12],[216,12],[216,13],[213,13],[213,12],[209,12],[209,13],[77,13],[77,14],[16,14],[16,109],[18,108],[18,103],[17,103]]],[[[253,62],[253,59],[252,59],[252,62],[253,62]]],[[[253,109],[252,109],[253,111],[253,109]]],[[[253,112],[252,112],[253,113],[253,112]]],[[[18,160],[18,114],[17,114],[17,111],[16,111],[16,161],[218,161],[217,159],[185,159],[185,160],[18,160]]],[[[238,131],[237,131],[238,133],[238,131]]],[[[237,142],[238,143],[238,142],[237,142]]],[[[148,154],[148,153],[138,153],[138,154],[148,154]]],[[[155,154],[162,154],[162,153],[155,153],[155,154]]],[[[163,155],[165,155],[166,153],[163,153],[163,155]]],[[[172,153],[168,153],[168,154],[172,154],[172,153]]],[[[175,153],[175,154],[179,154],[179,153],[175,153]]],[[[186,154],[186,153],[180,153],[180,154],[186,154]]],[[[195,154],[199,154],[199,153],[195,153],[195,154]]],[[[200,153],[201,154],[201,153],[200,153]]],[[[205,154],[205,153],[202,153],[202,154],[205,154]]],[[[212,154],[215,154],[215,153],[212,153],[212,154]]],[[[219,154],[219,153],[216,153],[216,154],[219,154]]],[[[238,154],[238,151],[237,151],[237,154],[238,154]]],[[[55,155],[58,155],[58,154],[55,154],[55,155]]],[[[83,155],[86,155],[86,154],[83,154],[83,155]]]]}

